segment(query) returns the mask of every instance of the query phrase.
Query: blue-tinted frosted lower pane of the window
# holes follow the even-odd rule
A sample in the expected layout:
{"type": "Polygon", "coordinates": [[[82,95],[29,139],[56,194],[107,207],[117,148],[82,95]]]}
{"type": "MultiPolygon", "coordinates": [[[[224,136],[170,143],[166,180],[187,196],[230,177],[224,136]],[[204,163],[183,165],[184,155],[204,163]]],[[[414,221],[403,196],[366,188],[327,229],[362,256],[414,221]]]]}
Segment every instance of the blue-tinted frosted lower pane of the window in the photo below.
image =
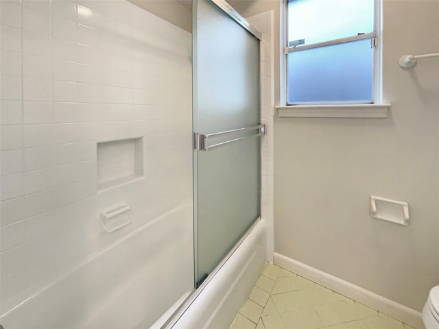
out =
{"type": "Polygon", "coordinates": [[[370,39],[294,51],[288,60],[288,103],[371,101],[370,39]]]}

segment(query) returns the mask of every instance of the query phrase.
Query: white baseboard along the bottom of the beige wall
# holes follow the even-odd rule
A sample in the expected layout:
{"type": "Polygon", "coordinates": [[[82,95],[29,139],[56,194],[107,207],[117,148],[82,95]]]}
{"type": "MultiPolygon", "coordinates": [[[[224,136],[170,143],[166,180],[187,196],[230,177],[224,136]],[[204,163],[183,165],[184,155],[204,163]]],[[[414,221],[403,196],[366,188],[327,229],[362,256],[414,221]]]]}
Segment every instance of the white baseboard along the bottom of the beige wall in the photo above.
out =
{"type": "Polygon", "coordinates": [[[289,271],[292,271],[299,276],[303,276],[313,282],[321,284],[328,289],[341,293],[346,297],[352,298],[361,304],[369,306],[379,312],[393,317],[405,324],[408,324],[417,329],[425,328],[423,325],[422,314],[412,308],[388,300],[385,297],[372,293],[364,288],[358,287],[355,284],[344,281],[335,276],[331,276],[329,273],[315,269],[309,265],[303,264],[283,256],[278,253],[274,253],[274,264],[289,271]]]}

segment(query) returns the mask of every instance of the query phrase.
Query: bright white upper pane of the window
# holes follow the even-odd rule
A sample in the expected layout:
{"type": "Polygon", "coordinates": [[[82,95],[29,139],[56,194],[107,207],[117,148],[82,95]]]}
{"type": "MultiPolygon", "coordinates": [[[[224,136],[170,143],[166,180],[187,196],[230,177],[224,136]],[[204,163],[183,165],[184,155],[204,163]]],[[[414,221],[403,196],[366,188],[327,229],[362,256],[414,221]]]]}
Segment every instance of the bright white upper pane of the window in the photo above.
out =
{"type": "Polygon", "coordinates": [[[373,0],[290,0],[289,47],[373,32],[373,0]]]}

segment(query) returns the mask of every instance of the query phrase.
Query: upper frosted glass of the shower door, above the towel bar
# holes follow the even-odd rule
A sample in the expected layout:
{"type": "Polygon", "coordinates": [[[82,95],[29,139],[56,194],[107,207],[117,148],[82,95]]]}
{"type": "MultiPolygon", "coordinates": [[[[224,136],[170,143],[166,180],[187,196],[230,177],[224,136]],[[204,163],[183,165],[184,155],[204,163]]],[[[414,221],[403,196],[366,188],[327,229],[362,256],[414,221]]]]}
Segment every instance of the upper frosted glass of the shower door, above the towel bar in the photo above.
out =
{"type": "Polygon", "coordinates": [[[259,40],[211,1],[198,1],[198,130],[222,132],[259,123],[259,40]]]}

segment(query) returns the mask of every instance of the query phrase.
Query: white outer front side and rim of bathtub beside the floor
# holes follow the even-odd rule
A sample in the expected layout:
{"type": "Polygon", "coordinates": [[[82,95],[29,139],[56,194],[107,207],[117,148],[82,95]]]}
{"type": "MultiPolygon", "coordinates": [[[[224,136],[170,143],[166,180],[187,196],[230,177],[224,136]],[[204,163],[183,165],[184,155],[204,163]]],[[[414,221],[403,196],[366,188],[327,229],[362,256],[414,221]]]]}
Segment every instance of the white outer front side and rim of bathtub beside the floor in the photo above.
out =
{"type": "Polygon", "coordinates": [[[262,219],[167,328],[229,328],[259,278],[267,256],[267,224],[262,219]]]}

